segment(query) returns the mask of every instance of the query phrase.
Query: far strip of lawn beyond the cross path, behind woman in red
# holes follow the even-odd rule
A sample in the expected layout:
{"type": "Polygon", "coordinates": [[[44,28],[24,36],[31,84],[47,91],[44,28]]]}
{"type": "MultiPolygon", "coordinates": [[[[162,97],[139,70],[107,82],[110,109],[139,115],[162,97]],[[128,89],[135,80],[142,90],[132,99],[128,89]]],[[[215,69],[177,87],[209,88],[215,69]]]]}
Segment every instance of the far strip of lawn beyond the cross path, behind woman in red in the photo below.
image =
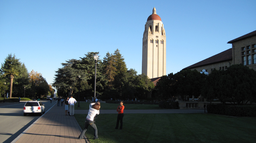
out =
{"type": "MultiPolygon", "coordinates": [[[[75,105],[75,110],[89,110],[89,102],[80,102],[80,108],[78,108],[78,103],[75,105]]],[[[101,110],[115,110],[120,104],[113,103],[100,103],[101,110]]],[[[148,105],[148,104],[124,104],[125,109],[161,109],[159,105],[148,105]]]]}

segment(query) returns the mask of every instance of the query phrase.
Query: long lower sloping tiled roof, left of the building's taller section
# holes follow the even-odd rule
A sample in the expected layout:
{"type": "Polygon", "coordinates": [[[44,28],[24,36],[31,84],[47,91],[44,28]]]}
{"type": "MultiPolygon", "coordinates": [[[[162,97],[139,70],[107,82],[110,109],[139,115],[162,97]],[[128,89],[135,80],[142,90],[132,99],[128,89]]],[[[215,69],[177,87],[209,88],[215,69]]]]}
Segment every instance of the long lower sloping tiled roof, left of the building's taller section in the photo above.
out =
{"type": "Polygon", "coordinates": [[[184,69],[192,69],[192,68],[196,68],[198,66],[205,66],[205,65],[219,63],[219,62],[223,62],[223,61],[227,61],[227,60],[232,60],[232,48],[227,49],[226,51],[222,51],[219,54],[215,54],[212,57],[202,60],[201,62],[195,63],[195,64],[188,66],[184,69]]]}

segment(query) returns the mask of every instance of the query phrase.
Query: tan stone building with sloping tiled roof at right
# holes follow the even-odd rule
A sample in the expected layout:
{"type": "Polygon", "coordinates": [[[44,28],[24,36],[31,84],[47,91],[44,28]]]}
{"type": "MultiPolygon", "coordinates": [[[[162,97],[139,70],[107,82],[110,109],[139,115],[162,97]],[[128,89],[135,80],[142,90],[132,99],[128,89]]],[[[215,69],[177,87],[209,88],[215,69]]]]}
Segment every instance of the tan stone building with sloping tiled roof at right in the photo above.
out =
{"type": "Polygon", "coordinates": [[[206,72],[210,74],[213,69],[226,70],[233,64],[243,64],[244,66],[256,70],[256,31],[245,34],[227,43],[232,44],[232,48],[184,69],[196,69],[198,72],[205,69],[206,72]]]}

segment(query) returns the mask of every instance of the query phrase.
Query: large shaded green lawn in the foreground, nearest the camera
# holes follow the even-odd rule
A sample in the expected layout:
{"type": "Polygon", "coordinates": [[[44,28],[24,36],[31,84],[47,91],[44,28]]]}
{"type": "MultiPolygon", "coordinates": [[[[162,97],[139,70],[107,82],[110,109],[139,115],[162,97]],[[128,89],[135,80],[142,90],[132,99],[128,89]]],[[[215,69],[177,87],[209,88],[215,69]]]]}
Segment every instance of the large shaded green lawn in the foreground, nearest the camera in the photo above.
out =
{"type": "MultiPolygon", "coordinates": [[[[86,116],[87,114],[75,114],[82,129],[86,116]]],[[[93,129],[89,126],[85,134],[90,142],[255,143],[256,141],[256,117],[228,117],[214,114],[125,114],[122,130],[115,129],[116,117],[117,114],[99,114],[95,119],[99,140],[93,140],[93,129]]]]}

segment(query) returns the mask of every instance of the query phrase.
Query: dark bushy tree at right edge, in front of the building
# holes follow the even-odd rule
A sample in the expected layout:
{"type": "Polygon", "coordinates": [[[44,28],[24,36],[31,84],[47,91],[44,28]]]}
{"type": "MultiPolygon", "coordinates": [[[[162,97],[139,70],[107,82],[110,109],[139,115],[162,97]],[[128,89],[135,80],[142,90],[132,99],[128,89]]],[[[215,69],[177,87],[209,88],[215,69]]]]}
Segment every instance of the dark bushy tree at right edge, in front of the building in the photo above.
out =
{"type": "Polygon", "coordinates": [[[256,101],[256,72],[247,66],[232,65],[227,70],[214,70],[206,78],[202,90],[208,100],[219,99],[223,104],[242,104],[256,101]]]}

